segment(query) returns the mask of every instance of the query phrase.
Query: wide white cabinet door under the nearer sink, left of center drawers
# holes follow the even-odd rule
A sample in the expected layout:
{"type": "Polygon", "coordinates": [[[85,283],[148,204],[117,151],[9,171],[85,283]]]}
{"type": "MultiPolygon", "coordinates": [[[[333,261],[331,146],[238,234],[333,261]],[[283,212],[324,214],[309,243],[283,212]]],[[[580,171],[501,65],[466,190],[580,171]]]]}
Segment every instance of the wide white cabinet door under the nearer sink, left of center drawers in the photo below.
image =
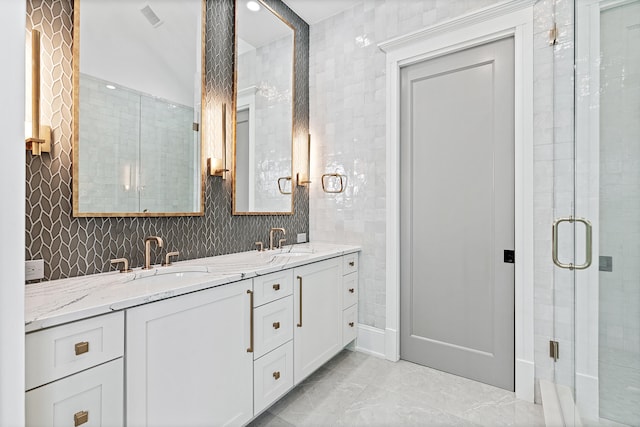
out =
{"type": "Polygon", "coordinates": [[[253,416],[251,280],[127,310],[127,425],[241,425],[253,416]]]}

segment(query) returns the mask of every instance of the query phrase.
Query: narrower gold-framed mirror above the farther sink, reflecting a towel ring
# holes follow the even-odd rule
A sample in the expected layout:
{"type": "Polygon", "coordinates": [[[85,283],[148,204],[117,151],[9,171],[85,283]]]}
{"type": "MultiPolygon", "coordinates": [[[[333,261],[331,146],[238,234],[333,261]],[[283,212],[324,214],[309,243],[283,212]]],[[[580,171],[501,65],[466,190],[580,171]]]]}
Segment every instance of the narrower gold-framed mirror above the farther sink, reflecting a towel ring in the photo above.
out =
{"type": "Polygon", "coordinates": [[[294,29],[260,1],[236,2],[233,213],[290,214],[294,29]]]}

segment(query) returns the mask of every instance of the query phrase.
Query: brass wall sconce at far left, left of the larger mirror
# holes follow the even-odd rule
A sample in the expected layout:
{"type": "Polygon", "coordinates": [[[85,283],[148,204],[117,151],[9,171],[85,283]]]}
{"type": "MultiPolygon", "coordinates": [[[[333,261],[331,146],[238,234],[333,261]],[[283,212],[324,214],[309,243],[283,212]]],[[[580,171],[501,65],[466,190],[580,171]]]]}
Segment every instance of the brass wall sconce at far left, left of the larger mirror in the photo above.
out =
{"type": "MultiPolygon", "coordinates": [[[[29,100],[27,100],[28,105],[29,100]]],[[[27,134],[29,135],[29,134],[27,134]]],[[[25,139],[34,156],[51,152],[51,127],[40,125],[40,31],[31,30],[31,136],[25,139]]]]}

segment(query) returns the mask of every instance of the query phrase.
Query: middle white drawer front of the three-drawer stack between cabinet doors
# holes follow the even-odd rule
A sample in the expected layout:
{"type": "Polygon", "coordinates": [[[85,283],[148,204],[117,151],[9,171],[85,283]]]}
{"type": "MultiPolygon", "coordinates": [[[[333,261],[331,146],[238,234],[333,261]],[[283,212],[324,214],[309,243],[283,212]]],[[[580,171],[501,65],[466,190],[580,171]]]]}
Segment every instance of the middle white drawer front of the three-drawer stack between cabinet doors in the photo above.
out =
{"type": "Polygon", "coordinates": [[[293,295],[255,309],[254,359],[293,339],[293,295]]]}

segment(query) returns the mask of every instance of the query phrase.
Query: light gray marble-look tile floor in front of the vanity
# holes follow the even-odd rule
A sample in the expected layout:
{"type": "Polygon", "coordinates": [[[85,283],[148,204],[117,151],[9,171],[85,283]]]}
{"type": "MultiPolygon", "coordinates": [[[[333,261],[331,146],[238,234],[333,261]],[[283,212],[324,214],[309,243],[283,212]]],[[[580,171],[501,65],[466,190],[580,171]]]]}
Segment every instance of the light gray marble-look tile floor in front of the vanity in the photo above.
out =
{"type": "Polygon", "coordinates": [[[344,350],[258,417],[275,426],[543,426],[542,406],[466,378],[344,350]]]}

